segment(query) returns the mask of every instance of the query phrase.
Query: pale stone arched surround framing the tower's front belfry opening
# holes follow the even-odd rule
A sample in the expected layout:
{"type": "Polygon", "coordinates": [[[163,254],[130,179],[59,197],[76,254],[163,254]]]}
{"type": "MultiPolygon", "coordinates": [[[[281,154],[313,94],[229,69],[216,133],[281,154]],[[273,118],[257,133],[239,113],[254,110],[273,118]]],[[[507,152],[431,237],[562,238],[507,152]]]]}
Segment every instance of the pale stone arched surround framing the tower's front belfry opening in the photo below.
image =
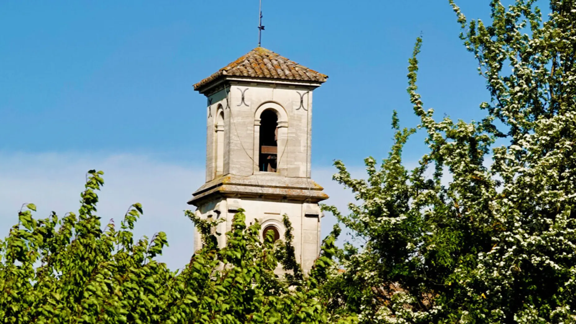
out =
{"type": "MultiPolygon", "coordinates": [[[[269,114],[268,114],[269,115],[269,114]]],[[[263,127],[267,127],[264,125],[263,127]]],[[[266,131],[266,129],[262,129],[266,131]]],[[[271,135],[270,135],[271,136],[271,135]]],[[[286,145],[288,142],[288,114],[284,107],[276,101],[264,101],[256,109],[254,113],[254,172],[278,172],[282,175],[286,175],[287,165],[286,165],[286,145]],[[276,130],[274,132],[275,145],[263,145],[261,139],[261,126],[262,122],[267,122],[268,118],[263,116],[267,115],[267,112],[273,111],[276,114],[276,130]],[[275,146],[272,147],[272,146],[275,146]],[[274,152],[272,152],[274,151],[274,152]],[[275,161],[274,168],[271,168],[271,164],[264,163],[263,159],[267,161],[275,161]]]]}

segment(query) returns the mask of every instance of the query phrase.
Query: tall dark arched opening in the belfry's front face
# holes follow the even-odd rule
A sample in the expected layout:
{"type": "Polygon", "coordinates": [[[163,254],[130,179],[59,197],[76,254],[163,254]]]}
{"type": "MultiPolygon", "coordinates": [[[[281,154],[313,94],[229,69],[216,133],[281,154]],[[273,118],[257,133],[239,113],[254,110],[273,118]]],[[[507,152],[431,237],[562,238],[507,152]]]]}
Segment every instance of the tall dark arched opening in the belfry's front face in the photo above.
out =
{"type": "Polygon", "coordinates": [[[276,172],[278,158],[278,115],[264,110],[260,115],[260,171],[276,172]]]}

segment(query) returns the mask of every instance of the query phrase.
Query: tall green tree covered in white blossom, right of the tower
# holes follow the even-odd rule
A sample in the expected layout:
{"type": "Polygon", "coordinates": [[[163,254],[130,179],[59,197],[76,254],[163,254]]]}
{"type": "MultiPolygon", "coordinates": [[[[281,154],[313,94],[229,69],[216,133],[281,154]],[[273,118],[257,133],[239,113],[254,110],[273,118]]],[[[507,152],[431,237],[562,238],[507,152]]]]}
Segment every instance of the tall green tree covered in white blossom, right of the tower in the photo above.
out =
{"type": "Polygon", "coordinates": [[[491,24],[450,5],[486,78],[487,116],[425,110],[418,39],[408,93],[429,152],[404,167],[416,129],[394,114],[391,152],[365,160],[366,179],[335,162],[357,203],[348,215],[324,208],[365,243],[340,254],[329,311],[362,323],[575,323],[576,1],[550,1],[544,21],[534,0],[492,0],[491,24]]]}

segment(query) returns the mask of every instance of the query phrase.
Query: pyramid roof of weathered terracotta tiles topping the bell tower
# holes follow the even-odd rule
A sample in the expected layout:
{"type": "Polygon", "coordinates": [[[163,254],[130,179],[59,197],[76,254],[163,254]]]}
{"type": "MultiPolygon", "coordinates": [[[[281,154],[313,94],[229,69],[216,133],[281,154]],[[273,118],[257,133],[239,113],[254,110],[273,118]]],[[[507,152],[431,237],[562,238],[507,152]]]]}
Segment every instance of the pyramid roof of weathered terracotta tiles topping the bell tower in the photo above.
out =
{"type": "Polygon", "coordinates": [[[194,85],[198,90],[204,85],[222,76],[239,76],[252,78],[288,79],[300,81],[325,82],[327,75],[308,69],[294,61],[267,50],[264,47],[256,47],[248,54],[241,56],[236,61],[222,67],[216,73],[194,85]]]}

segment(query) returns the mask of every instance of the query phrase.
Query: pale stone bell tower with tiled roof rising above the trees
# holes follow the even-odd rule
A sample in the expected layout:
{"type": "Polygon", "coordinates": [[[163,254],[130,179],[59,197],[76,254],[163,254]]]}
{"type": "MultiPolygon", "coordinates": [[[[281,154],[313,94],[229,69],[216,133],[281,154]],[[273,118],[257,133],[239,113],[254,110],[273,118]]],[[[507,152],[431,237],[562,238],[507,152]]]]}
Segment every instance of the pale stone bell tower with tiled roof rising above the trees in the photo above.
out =
{"type": "MultiPolygon", "coordinates": [[[[202,218],[225,218],[220,233],[242,208],[247,224],[259,221],[276,239],[287,214],[304,270],[320,253],[318,202],[328,198],[310,178],[312,91],[327,78],[256,47],[194,85],[207,97],[206,183],[188,204],[202,218]]],[[[194,244],[202,244],[198,232],[194,244]]]]}

